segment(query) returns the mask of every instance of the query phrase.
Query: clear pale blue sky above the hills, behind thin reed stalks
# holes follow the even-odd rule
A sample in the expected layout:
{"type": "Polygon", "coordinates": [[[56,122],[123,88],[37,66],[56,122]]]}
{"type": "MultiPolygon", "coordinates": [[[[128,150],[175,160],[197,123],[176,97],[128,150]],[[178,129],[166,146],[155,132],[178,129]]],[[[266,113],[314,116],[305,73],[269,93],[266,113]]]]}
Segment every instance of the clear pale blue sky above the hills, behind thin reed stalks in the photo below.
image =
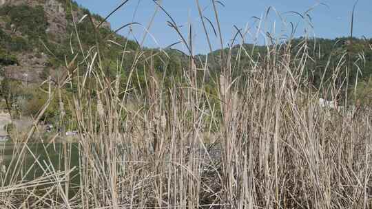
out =
{"type": "MultiPolygon", "coordinates": [[[[89,9],[91,12],[105,17],[123,1],[76,0],[76,2],[83,5],[83,7],[89,9]]],[[[231,43],[231,39],[236,33],[234,25],[242,29],[242,33],[246,34],[244,39],[245,43],[265,43],[265,39],[263,38],[265,32],[275,34],[276,38],[283,36],[283,34],[290,34],[290,22],[292,22],[293,25],[298,24],[296,36],[303,36],[306,32],[309,36],[331,39],[339,36],[348,36],[350,31],[351,10],[355,1],[224,0],[221,2],[225,6],[217,3],[217,9],[223,34],[223,44],[226,47],[228,43],[231,43]],[[314,5],[316,6],[314,7],[314,5]],[[265,17],[267,8],[269,7],[275,8],[275,10],[270,10],[267,21],[261,23],[261,29],[257,32],[259,23],[257,19],[252,17],[265,17]],[[308,13],[311,17],[311,23],[309,23],[309,17],[306,16],[305,19],[302,19],[298,14],[289,12],[296,11],[300,14],[304,14],[309,8],[313,8],[313,10],[308,13]],[[313,25],[313,27],[311,25],[313,25]],[[275,31],[273,28],[275,28],[275,31]]],[[[211,0],[199,0],[199,3],[204,10],[203,15],[216,27],[211,0]]],[[[169,12],[178,25],[182,25],[180,31],[185,38],[187,38],[188,34],[188,25],[192,25],[194,54],[209,52],[205,33],[203,32],[200,17],[198,16],[196,0],[162,0],[161,5],[169,12]]],[[[113,30],[132,21],[147,25],[155,9],[156,5],[152,0],[130,0],[123,8],[113,14],[108,21],[111,23],[113,30]]],[[[169,21],[169,18],[165,13],[158,10],[154,23],[149,30],[152,36],[147,36],[144,43],[145,46],[166,47],[167,45],[180,41],[180,37],[174,29],[167,25],[167,21],[169,21]],[[156,41],[154,41],[154,39],[156,41]]],[[[213,50],[217,50],[220,47],[219,38],[214,35],[207,21],[206,24],[213,50]]],[[[145,30],[142,26],[135,25],[132,28],[132,34],[129,33],[129,28],[125,28],[119,33],[130,39],[136,37],[136,39],[141,40],[144,32],[145,30]]],[[[372,37],[371,0],[360,0],[356,6],[354,36],[372,37]]],[[[239,39],[238,41],[242,40],[239,39]]],[[[178,50],[186,51],[185,46],[182,44],[178,44],[175,47],[178,48],[178,50]]]]}

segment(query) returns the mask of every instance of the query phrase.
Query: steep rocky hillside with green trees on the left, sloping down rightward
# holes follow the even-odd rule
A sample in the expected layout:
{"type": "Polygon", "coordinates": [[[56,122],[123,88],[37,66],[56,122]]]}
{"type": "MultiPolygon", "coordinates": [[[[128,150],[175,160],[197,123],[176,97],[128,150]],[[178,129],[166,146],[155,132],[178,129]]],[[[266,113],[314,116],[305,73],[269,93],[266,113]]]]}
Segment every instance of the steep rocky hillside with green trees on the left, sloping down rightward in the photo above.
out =
{"type": "MultiPolygon", "coordinates": [[[[105,56],[107,79],[116,76],[116,66],[123,62],[121,79],[127,80],[138,54],[138,43],[116,34],[103,17],[86,14],[90,11],[74,1],[12,0],[0,6],[2,109],[14,111],[13,115],[37,113],[46,101],[45,94],[40,91],[41,83],[50,79],[52,85],[56,85],[65,73],[66,62],[74,58],[81,69],[79,74],[83,75],[88,67],[85,53],[90,53],[92,47],[99,47],[105,56]],[[126,55],[123,61],[120,59],[122,52],[126,55]]],[[[138,56],[136,73],[132,75],[137,82],[130,86],[135,89],[145,87],[143,65],[149,63],[151,54],[158,74],[165,68],[180,69],[180,63],[187,61],[180,52],[159,52],[158,49],[141,48],[143,54],[138,56]]],[[[74,91],[73,84],[65,88],[65,97],[74,91]]],[[[56,106],[48,109],[50,115],[46,114],[50,120],[55,120],[58,115],[53,108],[56,106]]]]}

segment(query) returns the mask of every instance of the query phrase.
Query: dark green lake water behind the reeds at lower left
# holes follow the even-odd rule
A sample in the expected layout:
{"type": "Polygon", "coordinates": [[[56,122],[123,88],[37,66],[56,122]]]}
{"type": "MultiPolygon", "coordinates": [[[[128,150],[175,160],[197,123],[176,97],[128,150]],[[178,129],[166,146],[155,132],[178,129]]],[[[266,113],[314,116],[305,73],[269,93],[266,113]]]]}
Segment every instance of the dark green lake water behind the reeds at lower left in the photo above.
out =
{"type": "MultiPolygon", "coordinates": [[[[70,168],[76,166],[74,172],[71,173],[70,182],[75,186],[79,186],[79,144],[77,143],[56,143],[56,144],[41,144],[30,143],[27,146],[15,145],[12,142],[0,142],[0,172],[3,179],[0,182],[9,181],[11,173],[14,169],[20,170],[17,175],[18,181],[31,181],[37,177],[41,177],[43,170],[63,171],[65,169],[64,153],[67,151],[70,159],[70,168]],[[23,149],[23,152],[21,150],[23,149]],[[24,153],[20,155],[20,153],[24,153]],[[21,166],[17,166],[17,159],[23,159],[21,166]],[[8,175],[5,175],[8,171],[8,175]],[[22,179],[23,178],[23,179],[22,179]]],[[[1,185],[0,185],[1,186],[1,185]]]]}

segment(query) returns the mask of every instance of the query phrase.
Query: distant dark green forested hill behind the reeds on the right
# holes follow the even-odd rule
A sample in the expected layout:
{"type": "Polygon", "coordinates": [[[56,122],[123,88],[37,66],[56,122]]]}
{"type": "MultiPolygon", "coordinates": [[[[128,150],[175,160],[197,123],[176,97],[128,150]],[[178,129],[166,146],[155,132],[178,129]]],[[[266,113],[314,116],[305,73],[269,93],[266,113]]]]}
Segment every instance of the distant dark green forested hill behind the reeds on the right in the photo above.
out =
{"type": "MultiPolygon", "coordinates": [[[[327,89],[329,85],[342,85],[340,91],[349,92],[348,100],[372,104],[369,96],[372,93],[372,39],[300,37],[267,46],[235,45],[209,53],[209,67],[219,72],[221,54],[224,54],[225,59],[231,59],[234,77],[244,76],[250,73],[253,64],[265,63],[265,59],[269,59],[268,52],[273,49],[289,51],[291,59],[298,63],[306,60],[306,64],[298,70],[302,70],[308,87],[323,92],[325,98],[331,97],[330,89],[327,89]]],[[[205,55],[199,57],[205,59],[205,55]]]]}

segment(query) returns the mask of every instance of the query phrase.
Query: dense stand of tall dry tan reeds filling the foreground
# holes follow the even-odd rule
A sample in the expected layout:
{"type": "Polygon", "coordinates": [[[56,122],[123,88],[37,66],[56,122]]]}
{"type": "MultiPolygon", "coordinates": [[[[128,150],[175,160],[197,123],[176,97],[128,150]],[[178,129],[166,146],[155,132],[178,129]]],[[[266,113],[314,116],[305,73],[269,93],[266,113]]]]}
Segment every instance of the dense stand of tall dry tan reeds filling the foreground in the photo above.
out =
{"type": "MultiPolygon", "coordinates": [[[[219,26],[218,34],[223,44],[219,26]]],[[[191,39],[182,40],[192,49],[191,39]]],[[[25,142],[38,131],[41,110],[0,174],[0,206],[369,208],[371,111],[320,107],[320,92],[304,76],[311,61],[307,41],[296,46],[298,54],[293,47],[290,39],[274,41],[258,60],[244,45],[238,57],[232,48],[221,53],[221,72],[211,78],[216,91],[205,90],[214,69],[192,56],[177,82],[166,72],[156,74],[156,54],[141,48],[132,52],[130,69],[120,64],[126,54],[118,56],[114,77],[107,76],[99,45],[82,51],[84,61],[71,61],[50,91],[50,98],[59,99],[69,82],[77,86],[69,104],[59,101],[61,111],[66,105],[74,110],[72,119],[62,115],[61,121],[77,121],[79,159],[71,158],[71,145],[64,143],[59,168],[34,156],[43,175],[25,179],[23,159],[30,154],[25,142]],[[249,64],[240,67],[243,57],[249,64]],[[145,66],[145,89],[132,88],[138,65],[145,66]],[[127,83],[121,83],[121,74],[127,74],[127,83]],[[72,160],[79,160],[79,167],[72,168],[72,160]],[[71,180],[76,169],[77,186],[71,180]]],[[[344,94],[344,84],[335,79],[347,69],[345,58],[324,69],[334,75],[322,83],[333,100],[344,94]]]]}

